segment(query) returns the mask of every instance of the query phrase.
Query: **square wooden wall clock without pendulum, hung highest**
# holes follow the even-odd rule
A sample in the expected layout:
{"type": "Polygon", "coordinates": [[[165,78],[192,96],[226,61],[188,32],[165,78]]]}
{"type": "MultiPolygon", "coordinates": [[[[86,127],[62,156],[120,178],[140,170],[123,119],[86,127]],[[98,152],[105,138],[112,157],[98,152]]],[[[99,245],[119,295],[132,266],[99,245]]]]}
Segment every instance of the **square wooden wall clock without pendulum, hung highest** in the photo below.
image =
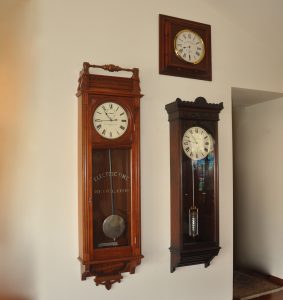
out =
{"type": "Polygon", "coordinates": [[[212,80],[210,25],[159,15],[159,73],[212,80]]]}

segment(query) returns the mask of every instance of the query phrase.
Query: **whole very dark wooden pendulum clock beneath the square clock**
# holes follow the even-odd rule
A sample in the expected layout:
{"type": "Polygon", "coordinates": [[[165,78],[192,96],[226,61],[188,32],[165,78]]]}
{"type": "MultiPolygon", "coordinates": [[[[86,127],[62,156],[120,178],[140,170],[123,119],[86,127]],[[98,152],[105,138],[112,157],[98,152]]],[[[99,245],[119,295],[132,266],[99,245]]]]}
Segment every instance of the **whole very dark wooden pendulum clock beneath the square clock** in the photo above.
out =
{"type": "Polygon", "coordinates": [[[218,254],[218,120],[223,103],[177,99],[170,122],[171,272],[218,254]]]}

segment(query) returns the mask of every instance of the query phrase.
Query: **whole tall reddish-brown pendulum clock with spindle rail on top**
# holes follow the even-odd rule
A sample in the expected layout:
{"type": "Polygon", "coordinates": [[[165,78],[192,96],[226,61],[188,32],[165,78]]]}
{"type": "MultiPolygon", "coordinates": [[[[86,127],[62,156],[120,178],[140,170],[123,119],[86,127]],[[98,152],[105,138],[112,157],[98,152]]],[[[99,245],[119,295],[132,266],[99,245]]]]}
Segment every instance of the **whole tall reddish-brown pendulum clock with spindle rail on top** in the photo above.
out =
{"type": "Polygon", "coordinates": [[[141,263],[138,69],[83,64],[79,102],[79,260],[82,280],[110,289],[141,263]],[[130,72],[131,77],[94,74],[130,72]]]}

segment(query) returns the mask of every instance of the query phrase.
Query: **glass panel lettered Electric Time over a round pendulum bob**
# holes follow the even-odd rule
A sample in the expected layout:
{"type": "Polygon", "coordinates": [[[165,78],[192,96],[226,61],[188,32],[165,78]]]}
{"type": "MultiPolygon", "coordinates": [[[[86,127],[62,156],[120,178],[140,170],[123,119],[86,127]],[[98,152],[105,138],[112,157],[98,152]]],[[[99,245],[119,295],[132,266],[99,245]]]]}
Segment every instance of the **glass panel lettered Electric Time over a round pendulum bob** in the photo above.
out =
{"type": "Polygon", "coordinates": [[[94,149],[94,248],[130,244],[131,150],[94,149]]]}

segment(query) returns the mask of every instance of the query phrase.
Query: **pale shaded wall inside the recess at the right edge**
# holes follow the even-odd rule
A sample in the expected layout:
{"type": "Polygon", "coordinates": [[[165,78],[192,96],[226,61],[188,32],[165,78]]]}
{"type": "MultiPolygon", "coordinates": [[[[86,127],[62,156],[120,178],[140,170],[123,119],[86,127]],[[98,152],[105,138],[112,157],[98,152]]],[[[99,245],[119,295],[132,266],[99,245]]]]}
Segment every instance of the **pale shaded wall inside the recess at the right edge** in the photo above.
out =
{"type": "Polygon", "coordinates": [[[233,114],[237,262],[280,278],[282,115],[283,98],[240,108],[233,114]]]}

